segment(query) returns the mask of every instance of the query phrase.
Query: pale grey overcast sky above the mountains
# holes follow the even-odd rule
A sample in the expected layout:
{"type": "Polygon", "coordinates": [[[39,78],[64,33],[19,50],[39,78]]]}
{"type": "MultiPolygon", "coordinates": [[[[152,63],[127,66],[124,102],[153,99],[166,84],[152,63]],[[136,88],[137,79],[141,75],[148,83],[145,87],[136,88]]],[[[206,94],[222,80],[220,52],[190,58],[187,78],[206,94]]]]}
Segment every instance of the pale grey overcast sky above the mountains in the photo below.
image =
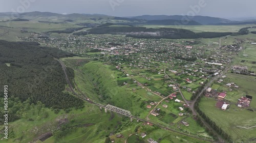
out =
{"type": "Polygon", "coordinates": [[[0,12],[41,11],[112,16],[196,14],[223,18],[256,17],[255,6],[255,0],[0,0],[0,12]],[[192,7],[199,6],[200,10],[194,9],[191,13],[192,7]]]}

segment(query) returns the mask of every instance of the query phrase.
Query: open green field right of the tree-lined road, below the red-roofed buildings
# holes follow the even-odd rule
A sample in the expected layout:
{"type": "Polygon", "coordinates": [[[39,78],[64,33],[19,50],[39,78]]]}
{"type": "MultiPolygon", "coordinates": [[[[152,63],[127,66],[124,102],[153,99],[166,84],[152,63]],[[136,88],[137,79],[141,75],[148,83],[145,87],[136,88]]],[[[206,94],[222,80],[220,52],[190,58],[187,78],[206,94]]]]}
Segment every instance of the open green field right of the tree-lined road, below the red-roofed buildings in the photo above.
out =
{"type": "Polygon", "coordinates": [[[237,126],[251,127],[256,125],[254,112],[231,105],[230,109],[223,111],[215,107],[216,100],[203,98],[200,102],[200,109],[214,121],[225,132],[231,135],[233,140],[241,142],[241,139],[249,141],[255,137],[254,129],[242,129],[237,126]],[[242,116],[241,116],[242,115],[242,116]]]}

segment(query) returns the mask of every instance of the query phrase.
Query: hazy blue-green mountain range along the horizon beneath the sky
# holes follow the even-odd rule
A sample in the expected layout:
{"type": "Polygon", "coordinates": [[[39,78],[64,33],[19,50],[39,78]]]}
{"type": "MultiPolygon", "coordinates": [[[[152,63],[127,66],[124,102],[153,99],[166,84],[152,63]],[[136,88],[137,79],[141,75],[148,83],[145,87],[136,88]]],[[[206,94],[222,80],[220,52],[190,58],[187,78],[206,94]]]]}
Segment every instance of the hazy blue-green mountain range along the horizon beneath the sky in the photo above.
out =
{"type": "MultiPolygon", "coordinates": [[[[209,16],[182,16],[182,15],[141,15],[133,17],[115,17],[104,14],[58,14],[52,12],[26,12],[26,13],[0,13],[0,18],[13,19],[28,19],[40,20],[46,18],[49,21],[69,20],[71,22],[91,20],[99,23],[114,22],[125,25],[140,25],[140,24],[153,24],[153,25],[239,25],[239,24],[254,24],[256,20],[232,21],[224,18],[209,17],[209,16]],[[14,17],[13,17],[14,16],[14,17]]],[[[40,20],[41,21],[41,20],[40,20]]]]}

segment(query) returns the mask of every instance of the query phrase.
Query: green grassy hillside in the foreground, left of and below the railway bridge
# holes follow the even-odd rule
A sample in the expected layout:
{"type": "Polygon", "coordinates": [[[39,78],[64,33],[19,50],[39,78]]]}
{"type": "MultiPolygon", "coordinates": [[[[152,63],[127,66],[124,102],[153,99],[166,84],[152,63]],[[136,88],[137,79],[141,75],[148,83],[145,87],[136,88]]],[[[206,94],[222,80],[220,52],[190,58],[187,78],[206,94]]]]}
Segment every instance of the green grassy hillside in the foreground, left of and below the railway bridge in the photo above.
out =
{"type": "MultiPolygon", "coordinates": [[[[47,119],[36,120],[37,113],[33,115],[31,109],[28,117],[35,121],[28,121],[27,118],[22,118],[9,124],[9,138],[1,142],[29,142],[36,137],[46,132],[57,129],[58,119],[68,118],[69,125],[75,127],[65,137],[56,139],[54,136],[44,142],[103,142],[105,135],[109,135],[116,129],[116,126],[121,123],[122,117],[115,114],[111,119],[111,113],[101,111],[98,106],[85,103],[82,110],[72,110],[70,113],[60,111],[57,115],[47,109],[49,117],[47,119]],[[106,124],[108,123],[108,124],[106,124]],[[87,124],[94,124],[86,127],[87,124]],[[13,138],[11,138],[13,137],[13,138]],[[22,138],[20,140],[20,138],[22,138]]],[[[124,122],[130,122],[129,119],[124,122]]],[[[134,125],[137,123],[134,122],[134,125]]],[[[1,126],[2,128],[2,126],[1,126]]],[[[41,141],[39,141],[41,142],[41,141]]]]}

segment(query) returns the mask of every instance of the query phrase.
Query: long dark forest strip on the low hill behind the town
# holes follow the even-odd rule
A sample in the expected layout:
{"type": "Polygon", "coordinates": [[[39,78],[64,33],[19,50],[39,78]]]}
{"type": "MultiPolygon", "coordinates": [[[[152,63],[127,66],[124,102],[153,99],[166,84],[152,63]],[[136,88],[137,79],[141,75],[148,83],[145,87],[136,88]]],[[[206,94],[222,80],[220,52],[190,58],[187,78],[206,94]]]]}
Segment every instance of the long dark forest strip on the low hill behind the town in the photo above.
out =
{"type": "Polygon", "coordinates": [[[176,29],[176,28],[146,28],[146,27],[133,27],[133,26],[103,26],[92,28],[87,32],[78,32],[74,35],[87,35],[87,34],[121,34],[127,37],[134,38],[153,38],[153,39],[194,39],[194,38],[214,38],[230,35],[232,33],[216,33],[216,32],[203,32],[194,33],[189,30],[176,29]]]}

